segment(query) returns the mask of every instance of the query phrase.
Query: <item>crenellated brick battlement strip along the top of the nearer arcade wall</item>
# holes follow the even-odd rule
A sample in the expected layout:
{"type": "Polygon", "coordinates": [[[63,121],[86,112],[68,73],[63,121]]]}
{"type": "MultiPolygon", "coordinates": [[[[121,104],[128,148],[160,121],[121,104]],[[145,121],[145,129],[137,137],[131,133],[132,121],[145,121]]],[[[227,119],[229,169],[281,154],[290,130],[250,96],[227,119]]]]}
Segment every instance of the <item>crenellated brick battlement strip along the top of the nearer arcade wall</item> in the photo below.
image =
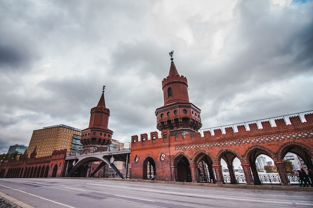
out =
{"type": "Polygon", "coordinates": [[[268,135],[274,135],[279,133],[297,132],[305,129],[313,128],[313,113],[305,114],[304,118],[306,122],[301,122],[299,116],[289,117],[290,124],[286,124],[283,118],[274,120],[275,126],[272,126],[270,121],[260,122],[261,128],[258,128],[257,123],[249,123],[248,129],[245,125],[238,125],[237,131],[233,130],[233,127],[228,126],[224,128],[224,133],[221,128],[214,129],[213,134],[211,131],[204,131],[203,136],[200,132],[194,132],[193,134],[169,136],[169,130],[165,129],[161,131],[161,135],[158,132],[151,132],[149,134],[140,134],[131,136],[131,148],[149,148],[151,146],[163,145],[166,142],[181,143],[186,140],[204,140],[206,142],[219,142],[227,140],[240,140],[247,138],[262,137],[268,135]]]}

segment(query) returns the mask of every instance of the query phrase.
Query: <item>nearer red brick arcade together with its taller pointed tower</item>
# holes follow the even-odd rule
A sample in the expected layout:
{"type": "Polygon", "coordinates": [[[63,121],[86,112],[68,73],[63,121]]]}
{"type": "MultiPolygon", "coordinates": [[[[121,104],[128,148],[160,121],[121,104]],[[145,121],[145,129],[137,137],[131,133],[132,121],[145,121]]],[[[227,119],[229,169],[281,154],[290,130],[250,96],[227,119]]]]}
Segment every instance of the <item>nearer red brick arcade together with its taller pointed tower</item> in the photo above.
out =
{"type": "MultiPolygon", "coordinates": [[[[172,54],[170,54],[172,55],[172,54]]],[[[168,76],[162,81],[164,105],[157,108],[157,132],[131,136],[130,178],[163,181],[199,182],[207,175],[210,183],[224,183],[220,165],[223,159],[228,167],[230,183],[236,184],[233,160],[238,158],[247,185],[260,185],[255,165],[256,158],[269,156],[277,168],[281,185],[289,184],[283,158],[286,153],[295,153],[302,158],[307,168],[313,168],[313,114],[306,114],[306,122],[299,116],[290,117],[290,125],[283,118],[276,119],[276,126],[269,121],[261,122],[262,128],[250,123],[204,131],[200,109],[189,102],[187,79],[180,76],[173,63],[168,76]],[[204,168],[207,167],[207,168],[204,168]],[[231,167],[231,168],[229,168],[231,167]],[[254,179],[254,180],[253,180],[254,179]]]]}

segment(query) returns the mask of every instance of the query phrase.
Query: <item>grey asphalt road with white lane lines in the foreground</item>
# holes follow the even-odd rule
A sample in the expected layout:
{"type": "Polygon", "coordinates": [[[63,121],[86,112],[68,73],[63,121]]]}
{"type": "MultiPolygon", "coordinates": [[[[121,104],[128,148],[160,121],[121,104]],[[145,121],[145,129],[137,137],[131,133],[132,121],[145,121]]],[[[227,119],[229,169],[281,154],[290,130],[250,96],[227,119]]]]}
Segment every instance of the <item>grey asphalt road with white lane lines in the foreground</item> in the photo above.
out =
{"type": "Polygon", "coordinates": [[[127,180],[0,179],[0,192],[34,208],[313,207],[313,193],[309,191],[248,190],[127,180]]]}

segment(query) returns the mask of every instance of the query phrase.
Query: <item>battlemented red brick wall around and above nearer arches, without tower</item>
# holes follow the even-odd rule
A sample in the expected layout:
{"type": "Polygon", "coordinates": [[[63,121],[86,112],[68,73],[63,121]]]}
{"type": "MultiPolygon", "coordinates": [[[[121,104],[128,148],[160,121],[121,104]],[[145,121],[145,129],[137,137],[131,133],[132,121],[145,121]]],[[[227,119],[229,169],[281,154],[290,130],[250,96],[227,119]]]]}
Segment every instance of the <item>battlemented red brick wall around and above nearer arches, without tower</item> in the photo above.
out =
{"type": "MultiPolygon", "coordinates": [[[[313,114],[305,115],[306,122],[301,122],[298,116],[290,117],[290,125],[286,125],[283,119],[275,120],[276,127],[271,127],[268,121],[261,122],[262,128],[258,129],[256,123],[249,124],[249,129],[244,126],[238,126],[238,132],[233,132],[232,127],[225,129],[222,134],[220,129],[214,130],[212,136],[209,131],[195,133],[193,137],[190,134],[167,138],[162,136],[158,138],[157,132],[150,133],[150,139],[138,141],[137,136],[131,137],[131,155],[130,155],[130,178],[143,179],[143,162],[150,157],[155,162],[156,179],[174,181],[174,159],[178,155],[184,155],[190,166],[195,166],[195,158],[198,152],[205,152],[213,165],[220,165],[220,157],[223,152],[228,151],[234,154],[241,164],[248,164],[248,156],[255,148],[261,149],[274,162],[281,162],[284,154],[291,145],[306,151],[313,158],[313,114]],[[156,139],[152,139],[156,135],[156,139]],[[135,141],[135,142],[133,142],[135,141]],[[161,154],[165,154],[164,161],[160,160],[161,154]],[[135,156],[139,157],[137,163],[134,162],[135,156]]],[[[146,134],[141,134],[146,135],[146,134]]],[[[147,135],[146,135],[147,137],[147,135]]]]}

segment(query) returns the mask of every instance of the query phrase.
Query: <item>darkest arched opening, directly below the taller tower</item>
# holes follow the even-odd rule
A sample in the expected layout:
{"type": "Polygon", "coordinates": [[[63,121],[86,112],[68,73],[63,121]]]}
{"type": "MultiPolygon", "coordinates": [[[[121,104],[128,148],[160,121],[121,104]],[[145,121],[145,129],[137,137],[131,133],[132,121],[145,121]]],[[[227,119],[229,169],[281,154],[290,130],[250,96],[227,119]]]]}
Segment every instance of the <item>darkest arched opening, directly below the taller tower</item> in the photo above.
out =
{"type": "Polygon", "coordinates": [[[191,182],[191,171],[189,162],[184,156],[178,157],[175,165],[175,179],[180,182],[191,182]]]}

